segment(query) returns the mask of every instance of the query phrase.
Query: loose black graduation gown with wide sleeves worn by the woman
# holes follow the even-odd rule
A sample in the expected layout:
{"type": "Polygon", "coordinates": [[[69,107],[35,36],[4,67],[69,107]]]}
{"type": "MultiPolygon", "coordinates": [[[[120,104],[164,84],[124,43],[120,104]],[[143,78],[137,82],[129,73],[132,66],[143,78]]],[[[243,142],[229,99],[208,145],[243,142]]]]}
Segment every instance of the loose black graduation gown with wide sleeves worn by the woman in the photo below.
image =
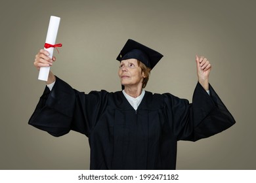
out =
{"type": "Polygon", "coordinates": [[[56,78],[29,124],[55,137],[89,137],[90,169],[175,169],[177,141],[197,141],[235,123],[217,93],[198,83],[192,104],[170,93],[145,95],[134,110],[121,91],[85,94],[56,78]]]}

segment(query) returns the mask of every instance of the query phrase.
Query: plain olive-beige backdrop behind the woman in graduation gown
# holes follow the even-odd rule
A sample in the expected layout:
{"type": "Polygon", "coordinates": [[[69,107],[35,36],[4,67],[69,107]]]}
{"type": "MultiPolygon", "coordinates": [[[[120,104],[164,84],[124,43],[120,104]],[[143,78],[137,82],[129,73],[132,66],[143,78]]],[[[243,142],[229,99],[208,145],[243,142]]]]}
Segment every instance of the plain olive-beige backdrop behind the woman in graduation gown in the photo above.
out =
{"type": "Polygon", "coordinates": [[[210,83],[236,119],[223,133],[178,142],[177,169],[255,169],[255,1],[1,0],[0,169],[89,169],[87,137],[52,137],[28,125],[45,88],[35,54],[51,15],[61,18],[51,71],[77,90],[121,89],[116,61],[127,39],[164,55],[146,90],[191,101],[195,55],[213,65],[210,83]]]}

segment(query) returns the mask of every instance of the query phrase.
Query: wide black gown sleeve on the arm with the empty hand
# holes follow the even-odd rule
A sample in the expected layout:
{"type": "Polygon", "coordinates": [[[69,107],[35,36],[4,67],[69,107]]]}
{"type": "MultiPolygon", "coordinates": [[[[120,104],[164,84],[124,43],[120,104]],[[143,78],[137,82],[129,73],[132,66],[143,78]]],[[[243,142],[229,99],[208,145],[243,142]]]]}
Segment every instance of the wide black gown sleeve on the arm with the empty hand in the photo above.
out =
{"type": "Polygon", "coordinates": [[[198,141],[235,124],[232,114],[211,85],[209,91],[210,95],[198,82],[192,103],[173,95],[165,96],[169,125],[178,141],[198,141]]]}

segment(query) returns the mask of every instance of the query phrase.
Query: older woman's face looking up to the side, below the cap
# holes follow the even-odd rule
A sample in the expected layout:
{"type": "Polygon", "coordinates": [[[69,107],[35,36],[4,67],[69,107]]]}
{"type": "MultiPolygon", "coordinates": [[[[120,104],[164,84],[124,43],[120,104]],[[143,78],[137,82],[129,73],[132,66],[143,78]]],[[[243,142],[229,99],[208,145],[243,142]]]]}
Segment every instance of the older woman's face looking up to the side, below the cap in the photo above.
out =
{"type": "Polygon", "coordinates": [[[141,86],[144,78],[137,59],[125,59],[120,62],[119,78],[123,86],[141,86]]]}

